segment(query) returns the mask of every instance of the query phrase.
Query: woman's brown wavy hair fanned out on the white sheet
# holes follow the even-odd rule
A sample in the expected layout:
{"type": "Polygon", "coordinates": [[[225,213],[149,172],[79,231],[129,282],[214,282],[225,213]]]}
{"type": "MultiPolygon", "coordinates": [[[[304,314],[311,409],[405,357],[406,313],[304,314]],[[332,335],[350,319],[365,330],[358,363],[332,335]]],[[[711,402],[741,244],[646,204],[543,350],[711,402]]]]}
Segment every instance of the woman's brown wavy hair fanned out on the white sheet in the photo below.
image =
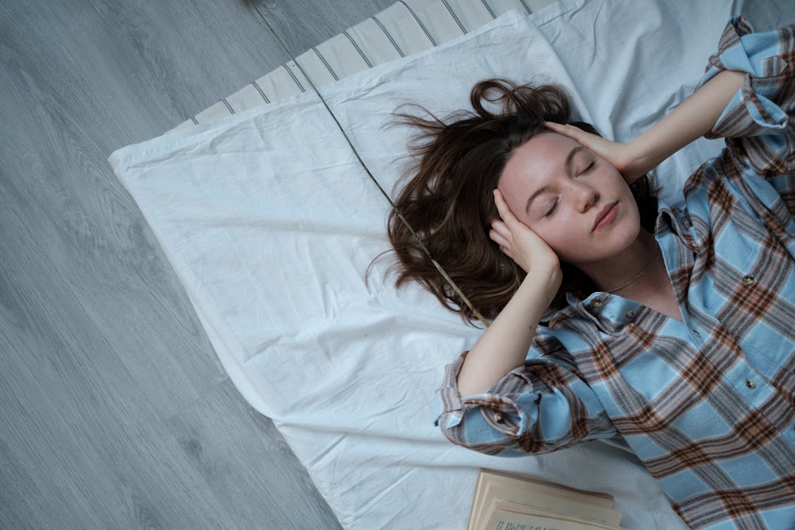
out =
{"type": "MultiPolygon", "coordinates": [[[[493,319],[514,296],[525,271],[489,238],[492,219],[498,218],[492,191],[514,149],[545,131],[544,122],[570,123],[589,133],[593,126],[572,121],[572,106],[563,87],[519,85],[507,79],[488,79],[475,84],[470,94],[474,111],[459,111],[436,118],[396,114],[396,125],[417,130],[409,149],[416,163],[396,190],[397,210],[416,231],[431,256],[440,263],[474,308],[493,319]],[[498,106],[496,112],[484,104],[498,106]]],[[[657,192],[648,177],[631,189],[641,212],[641,223],[653,230],[657,192]]],[[[458,311],[467,321],[475,311],[444,280],[411,230],[396,211],[388,219],[390,242],[397,254],[396,286],[417,280],[444,307],[458,311]]],[[[573,265],[561,262],[563,281],[551,309],[565,305],[565,293],[588,296],[595,284],[573,265]]]]}

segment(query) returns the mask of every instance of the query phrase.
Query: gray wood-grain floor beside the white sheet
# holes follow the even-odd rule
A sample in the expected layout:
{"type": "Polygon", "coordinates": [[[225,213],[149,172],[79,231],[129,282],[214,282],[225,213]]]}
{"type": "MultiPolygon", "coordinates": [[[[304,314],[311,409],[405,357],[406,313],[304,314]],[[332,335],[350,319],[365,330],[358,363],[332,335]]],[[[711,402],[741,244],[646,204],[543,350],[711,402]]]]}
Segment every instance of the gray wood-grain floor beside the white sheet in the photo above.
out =
{"type": "MultiPolygon", "coordinates": [[[[394,0],[260,0],[300,53],[394,0]]],[[[243,0],[0,2],[0,528],[338,528],[107,156],[287,57],[243,0]]]]}

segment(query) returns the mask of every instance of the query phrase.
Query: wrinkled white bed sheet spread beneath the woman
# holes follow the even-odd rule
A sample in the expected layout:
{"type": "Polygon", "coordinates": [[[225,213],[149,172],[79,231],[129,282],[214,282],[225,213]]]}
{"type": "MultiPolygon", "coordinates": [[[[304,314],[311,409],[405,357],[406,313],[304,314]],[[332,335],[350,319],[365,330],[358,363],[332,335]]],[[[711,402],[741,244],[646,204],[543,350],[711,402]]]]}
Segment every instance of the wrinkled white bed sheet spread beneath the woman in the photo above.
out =
{"type": "MultiPolygon", "coordinates": [[[[563,0],[322,91],[387,190],[409,134],[383,128],[396,106],[445,114],[487,77],[562,83],[584,119],[626,140],[699,79],[738,9],[723,4],[563,0]]],[[[700,142],[661,179],[687,176],[717,148],[700,142]]],[[[110,162],[231,380],[273,419],[345,528],[463,528],[479,467],[611,493],[627,528],[683,528],[615,447],[494,458],[433,427],[443,367],[480,331],[416,286],[396,291],[389,259],[366,282],[388,248],[389,206],[316,95],[131,145],[110,162]]]]}

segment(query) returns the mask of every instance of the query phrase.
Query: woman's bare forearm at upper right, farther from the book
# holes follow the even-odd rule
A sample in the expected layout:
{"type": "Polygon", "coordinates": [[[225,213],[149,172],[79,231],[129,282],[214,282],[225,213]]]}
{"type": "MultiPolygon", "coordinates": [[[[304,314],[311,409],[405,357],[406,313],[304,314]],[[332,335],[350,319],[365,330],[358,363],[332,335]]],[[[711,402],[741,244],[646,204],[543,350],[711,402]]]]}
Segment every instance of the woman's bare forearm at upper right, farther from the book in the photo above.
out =
{"type": "MultiPolygon", "coordinates": [[[[715,125],[732,96],[743,86],[744,72],[724,71],[627,145],[635,164],[655,168],[715,125]]],[[[644,171],[643,173],[645,173],[644,171]]]]}

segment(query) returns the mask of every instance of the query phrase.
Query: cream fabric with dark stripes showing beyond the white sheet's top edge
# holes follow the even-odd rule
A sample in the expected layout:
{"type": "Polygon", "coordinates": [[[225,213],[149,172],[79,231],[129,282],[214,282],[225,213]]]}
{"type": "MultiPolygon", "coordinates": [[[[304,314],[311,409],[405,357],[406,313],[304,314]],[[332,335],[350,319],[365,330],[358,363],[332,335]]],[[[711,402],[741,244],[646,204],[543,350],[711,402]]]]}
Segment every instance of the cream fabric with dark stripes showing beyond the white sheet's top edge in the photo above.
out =
{"type": "MultiPolygon", "coordinates": [[[[182,122],[183,130],[334,83],[348,75],[422,52],[519,9],[532,14],[555,0],[397,0],[380,13],[313,46],[182,122]],[[299,68],[299,64],[301,68],[299,68]],[[303,72],[302,72],[303,71],[303,72]]],[[[263,30],[266,30],[263,28],[263,30]]]]}

